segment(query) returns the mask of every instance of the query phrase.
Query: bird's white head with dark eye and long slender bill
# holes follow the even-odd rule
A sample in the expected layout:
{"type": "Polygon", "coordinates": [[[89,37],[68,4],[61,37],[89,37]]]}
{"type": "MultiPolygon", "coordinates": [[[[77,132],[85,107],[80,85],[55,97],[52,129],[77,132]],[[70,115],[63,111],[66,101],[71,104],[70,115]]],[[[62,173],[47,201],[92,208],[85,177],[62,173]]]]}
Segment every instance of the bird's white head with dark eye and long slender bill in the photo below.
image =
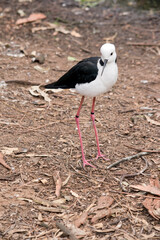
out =
{"type": "Polygon", "coordinates": [[[104,62],[103,70],[101,73],[102,75],[106,64],[116,62],[117,54],[116,54],[116,49],[114,44],[111,44],[111,43],[103,44],[102,47],[100,48],[100,52],[101,52],[101,59],[104,62]]]}

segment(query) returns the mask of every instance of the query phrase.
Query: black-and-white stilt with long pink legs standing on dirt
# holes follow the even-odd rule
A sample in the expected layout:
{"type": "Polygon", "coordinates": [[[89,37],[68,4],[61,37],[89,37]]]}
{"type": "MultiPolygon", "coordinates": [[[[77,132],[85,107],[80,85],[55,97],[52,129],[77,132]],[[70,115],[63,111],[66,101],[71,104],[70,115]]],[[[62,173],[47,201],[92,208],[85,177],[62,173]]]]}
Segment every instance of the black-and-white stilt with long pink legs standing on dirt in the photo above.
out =
{"type": "Polygon", "coordinates": [[[86,160],[85,158],[82,135],[80,131],[79,117],[85,97],[93,98],[91,107],[91,119],[93,122],[93,128],[95,132],[98,150],[96,159],[101,157],[106,160],[105,155],[103,155],[100,150],[99,138],[95,125],[95,101],[97,96],[108,92],[116,83],[118,78],[118,67],[117,54],[114,44],[103,44],[100,48],[100,53],[100,57],[85,58],[78,62],[76,65],[74,65],[57,81],[44,85],[46,89],[75,89],[77,93],[82,95],[79,108],[75,116],[75,120],[80,139],[83,167],[95,167],[94,165],[89,163],[90,160],[86,160]]]}

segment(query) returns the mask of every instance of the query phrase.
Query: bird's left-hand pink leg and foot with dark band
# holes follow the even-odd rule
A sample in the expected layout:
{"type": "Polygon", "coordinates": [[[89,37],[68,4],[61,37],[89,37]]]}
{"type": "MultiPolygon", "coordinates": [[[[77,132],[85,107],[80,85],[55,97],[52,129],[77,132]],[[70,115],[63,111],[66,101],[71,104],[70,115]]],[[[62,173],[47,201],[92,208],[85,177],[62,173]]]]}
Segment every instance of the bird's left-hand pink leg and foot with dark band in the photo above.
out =
{"type": "Polygon", "coordinates": [[[84,101],[84,96],[82,96],[81,98],[81,102],[75,117],[76,123],[77,123],[77,128],[78,128],[78,134],[79,134],[79,138],[80,138],[80,144],[81,144],[81,151],[82,151],[82,160],[83,160],[83,167],[85,167],[86,165],[89,165],[91,167],[94,167],[92,164],[88,163],[88,161],[85,159],[85,155],[84,155],[84,150],[83,150],[83,143],[82,143],[82,137],[81,137],[81,131],[80,131],[80,126],[79,126],[79,115],[80,115],[80,111],[81,111],[81,107],[84,101]]]}

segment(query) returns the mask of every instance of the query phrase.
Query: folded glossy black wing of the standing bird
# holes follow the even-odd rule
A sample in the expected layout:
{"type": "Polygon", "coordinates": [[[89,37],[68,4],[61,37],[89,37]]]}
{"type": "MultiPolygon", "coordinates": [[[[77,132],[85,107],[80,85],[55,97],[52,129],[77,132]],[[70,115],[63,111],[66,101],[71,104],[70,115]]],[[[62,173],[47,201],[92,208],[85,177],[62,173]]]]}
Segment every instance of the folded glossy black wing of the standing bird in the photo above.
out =
{"type": "Polygon", "coordinates": [[[45,88],[75,88],[77,83],[89,83],[98,73],[97,61],[99,57],[86,58],[73,66],[58,81],[45,85],[45,88]]]}

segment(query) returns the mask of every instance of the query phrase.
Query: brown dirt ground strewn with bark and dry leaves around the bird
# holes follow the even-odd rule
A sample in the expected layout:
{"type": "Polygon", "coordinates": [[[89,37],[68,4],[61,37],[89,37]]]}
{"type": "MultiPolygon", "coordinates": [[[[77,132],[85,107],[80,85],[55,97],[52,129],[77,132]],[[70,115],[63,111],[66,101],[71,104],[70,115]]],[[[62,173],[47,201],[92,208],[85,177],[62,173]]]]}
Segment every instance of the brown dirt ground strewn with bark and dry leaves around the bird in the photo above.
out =
{"type": "Polygon", "coordinates": [[[158,11],[107,1],[92,8],[72,0],[1,1],[0,158],[11,169],[0,165],[0,239],[160,239],[159,194],[131,186],[159,184],[159,40],[158,11]],[[16,24],[19,14],[37,12],[46,18],[16,24]],[[88,98],[80,124],[96,168],[83,169],[74,119],[81,96],[31,90],[99,56],[106,41],[116,45],[119,77],[97,97],[95,115],[109,160],[95,160],[88,98]],[[33,51],[43,64],[32,62],[33,51]]]}

